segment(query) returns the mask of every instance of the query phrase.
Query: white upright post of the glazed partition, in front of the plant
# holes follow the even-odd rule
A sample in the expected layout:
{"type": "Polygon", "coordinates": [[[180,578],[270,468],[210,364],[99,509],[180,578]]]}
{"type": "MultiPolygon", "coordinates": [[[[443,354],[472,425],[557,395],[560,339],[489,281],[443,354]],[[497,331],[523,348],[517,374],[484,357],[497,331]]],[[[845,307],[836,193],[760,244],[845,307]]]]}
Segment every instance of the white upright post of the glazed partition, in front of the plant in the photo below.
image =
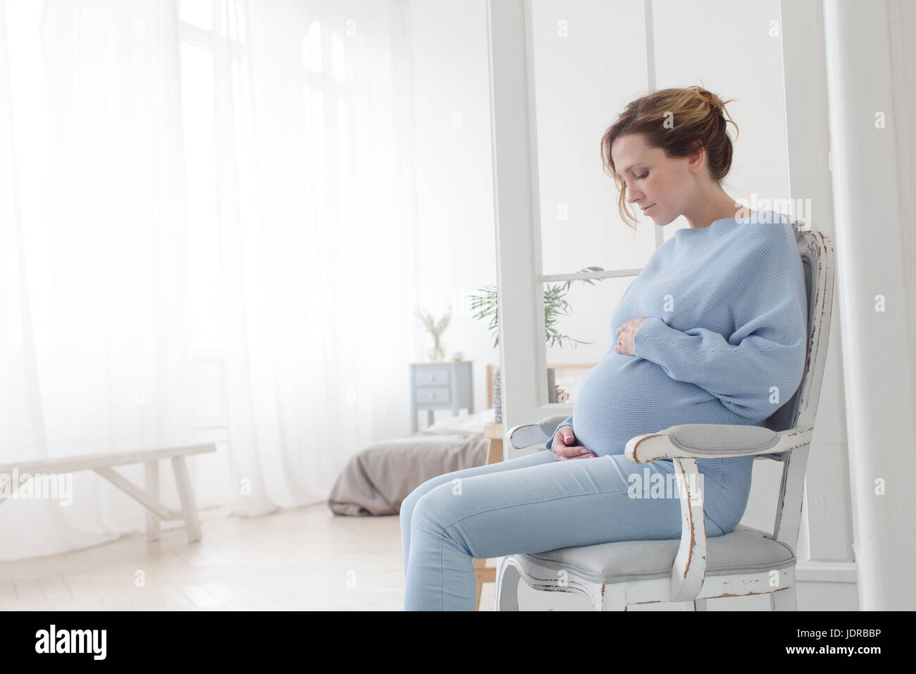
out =
{"type": "MultiPolygon", "coordinates": [[[[525,0],[487,0],[499,379],[503,428],[561,414],[547,402],[540,206],[529,16],[525,0]]],[[[507,459],[509,445],[504,444],[507,459]]]]}

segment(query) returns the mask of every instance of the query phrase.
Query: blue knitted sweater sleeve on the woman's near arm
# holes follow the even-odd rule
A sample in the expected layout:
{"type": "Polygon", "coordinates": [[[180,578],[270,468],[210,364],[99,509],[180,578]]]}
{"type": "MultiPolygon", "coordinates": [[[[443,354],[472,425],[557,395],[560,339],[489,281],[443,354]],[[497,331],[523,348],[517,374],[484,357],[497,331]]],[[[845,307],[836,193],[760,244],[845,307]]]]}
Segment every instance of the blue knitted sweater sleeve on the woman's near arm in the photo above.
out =
{"type": "Polygon", "coordinates": [[[644,320],[633,339],[635,357],[705,389],[752,423],[791,398],[807,356],[807,298],[794,235],[788,224],[757,227],[766,231],[748,236],[740,282],[716,289],[716,300],[736,316],[728,339],[702,327],[678,330],[658,316],[644,320]]]}

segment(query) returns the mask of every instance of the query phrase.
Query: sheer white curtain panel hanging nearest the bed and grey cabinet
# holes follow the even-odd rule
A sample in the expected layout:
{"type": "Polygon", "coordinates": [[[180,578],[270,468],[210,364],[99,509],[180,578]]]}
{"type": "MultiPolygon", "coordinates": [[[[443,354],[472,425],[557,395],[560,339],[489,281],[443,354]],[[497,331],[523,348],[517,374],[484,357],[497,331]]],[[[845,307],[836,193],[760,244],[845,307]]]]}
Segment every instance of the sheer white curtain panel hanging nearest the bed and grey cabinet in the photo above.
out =
{"type": "Polygon", "coordinates": [[[354,452],[408,429],[407,5],[213,9],[186,35],[214,58],[233,513],[264,514],[321,502],[354,452]]]}

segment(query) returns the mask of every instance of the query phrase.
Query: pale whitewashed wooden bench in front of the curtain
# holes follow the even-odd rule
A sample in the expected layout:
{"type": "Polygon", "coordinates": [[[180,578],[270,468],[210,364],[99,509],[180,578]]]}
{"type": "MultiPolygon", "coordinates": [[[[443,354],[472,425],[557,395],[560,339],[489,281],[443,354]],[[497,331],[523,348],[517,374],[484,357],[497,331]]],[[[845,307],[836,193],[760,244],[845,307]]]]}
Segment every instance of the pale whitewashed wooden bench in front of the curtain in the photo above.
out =
{"type": "MultiPolygon", "coordinates": [[[[39,459],[8,463],[0,466],[0,479],[10,481],[9,495],[12,497],[19,488],[19,479],[14,475],[53,475],[71,473],[79,470],[94,470],[105,480],[125,492],[128,496],[142,503],[147,508],[147,541],[158,541],[159,520],[184,520],[191,542],[201,540],[201,523],[197,518],[194,506],[194,495],[191,492],[191,480],[184,458],[191,454],[216,451],[213,443],[191,445],[189,447],[166,447],[164,449],[139,449],[128,452],[108,454],[85,454],[78,457],[60,457],[58,459],[39,459]],[[178,486],[181,501],[180,510],[167,508],[159,501],[159,460],[171,459],[175,471],[175,483],[178,486]],[[125,466],[132,463],[146,464],[145,489],[140,489],[127,480],[114,466],[125,466]]],[[[4,503],[0,493],[0,505],[4,503]]]]}

